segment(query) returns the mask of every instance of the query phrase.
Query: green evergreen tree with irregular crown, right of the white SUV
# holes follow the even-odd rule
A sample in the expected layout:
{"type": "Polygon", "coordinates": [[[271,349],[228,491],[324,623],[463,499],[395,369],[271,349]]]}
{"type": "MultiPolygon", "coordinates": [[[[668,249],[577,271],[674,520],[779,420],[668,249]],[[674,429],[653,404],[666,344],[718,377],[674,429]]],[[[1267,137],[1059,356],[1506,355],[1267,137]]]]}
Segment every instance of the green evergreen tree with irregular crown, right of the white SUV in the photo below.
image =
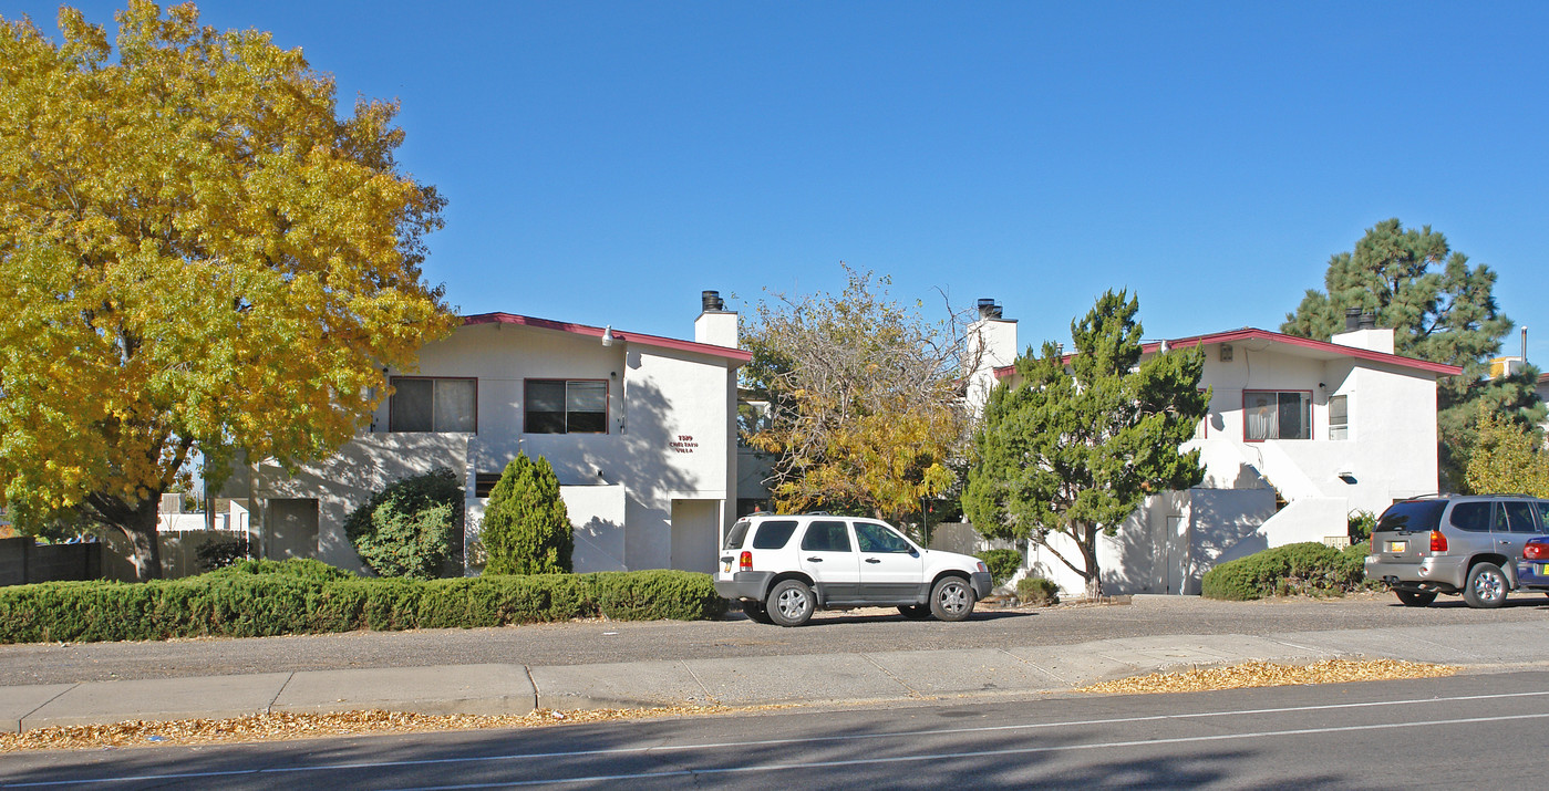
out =
{"type": "Polygon", "coordinates": [[[1205,358],[1176,350],[1142,362],[1140,302],[1103,294],[1072,322],[1075,356],[1046,342],[1016,359],[1016,384],[990,393],[974,432],[963,511],[993,539],[1032,539],[1101,594],[1097,536],[1114,536],[1148,494],[1204,478],[1199,450],[1179,452],[1205,418],[1205,358]],[[1066,557],[1052,536],[1067,536],[1066,557]]]}

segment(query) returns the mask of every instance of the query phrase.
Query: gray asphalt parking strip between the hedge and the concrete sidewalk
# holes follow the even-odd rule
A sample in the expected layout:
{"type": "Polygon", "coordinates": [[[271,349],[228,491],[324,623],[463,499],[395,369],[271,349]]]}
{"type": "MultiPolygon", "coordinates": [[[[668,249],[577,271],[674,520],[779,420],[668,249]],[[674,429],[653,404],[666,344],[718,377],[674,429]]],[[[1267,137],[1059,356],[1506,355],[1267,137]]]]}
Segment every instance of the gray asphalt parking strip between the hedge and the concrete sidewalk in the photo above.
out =
{"type": "Polygon", "coordinates": [[[1427,608],[1391,594],[1345,599],[1218,602],[1197,596],[1139,596],[1126,605],[990,610],[970,621],[906,621],[892,610],[818,613],[801,628],[725,621],[584,621],[505,628],[353,632],[170,642],[0,645],[0,686],[113,678],[167,678],[350,667],[502,663],[561,666],[643,659],[816,655],[934,649],[1061,645],[1151,635],[1267,635],[1399,625],[1537,622],[1549,599],[1513,596],[1499,610],[1470,610],[1458,598],[1427,608]]]}

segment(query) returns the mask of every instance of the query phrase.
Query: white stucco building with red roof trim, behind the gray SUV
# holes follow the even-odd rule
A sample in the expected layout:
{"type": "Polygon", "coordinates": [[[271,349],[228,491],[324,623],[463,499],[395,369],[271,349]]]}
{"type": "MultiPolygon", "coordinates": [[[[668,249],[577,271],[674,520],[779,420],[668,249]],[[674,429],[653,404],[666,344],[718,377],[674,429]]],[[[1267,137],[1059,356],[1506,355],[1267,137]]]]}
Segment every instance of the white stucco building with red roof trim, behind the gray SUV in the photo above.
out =
{"type": "MultiPolygon", "coordinates": [[[[970,333],[984,348],[968,379],[982,409],[994,381],[1015,384],[1016,322],[981,310],[970,333]]],[[[1437,491],[1436,379],[1461,368],[1394,354],[1393,330],[1321,342],[1241,328],[1151,342],[1145,353],[1183,347],[1204,350],[1200,387],[1211,390],[1210,413],[1185,444],[1200,450],[1205,480],[1148,497],[1117,536],[1098,539],[1104,593],[1199,593],[1216,563],[1332,543],[1349,512],[1437,491]]],[[[1073,545],[1061,554],[1080,563],[1073,545]]],[[[1083,590],[1049,550],[1035,546],[1027,560],[1064,591],[1083,590]]]]}

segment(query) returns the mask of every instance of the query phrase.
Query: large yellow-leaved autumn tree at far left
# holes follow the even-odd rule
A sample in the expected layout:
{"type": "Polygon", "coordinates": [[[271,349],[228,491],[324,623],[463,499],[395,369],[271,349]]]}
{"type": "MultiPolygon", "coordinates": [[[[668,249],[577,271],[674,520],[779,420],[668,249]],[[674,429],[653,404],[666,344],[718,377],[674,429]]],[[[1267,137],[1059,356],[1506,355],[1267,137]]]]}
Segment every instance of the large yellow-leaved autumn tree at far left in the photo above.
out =
{"type": "Polygon", "coordinates": [[[0,17],[0,497],[121,529],[149,579],[191,460],[327,454],[455,319],[395,104],[341,118],[301,50],[192,5],[116,20],[0,17]]]}

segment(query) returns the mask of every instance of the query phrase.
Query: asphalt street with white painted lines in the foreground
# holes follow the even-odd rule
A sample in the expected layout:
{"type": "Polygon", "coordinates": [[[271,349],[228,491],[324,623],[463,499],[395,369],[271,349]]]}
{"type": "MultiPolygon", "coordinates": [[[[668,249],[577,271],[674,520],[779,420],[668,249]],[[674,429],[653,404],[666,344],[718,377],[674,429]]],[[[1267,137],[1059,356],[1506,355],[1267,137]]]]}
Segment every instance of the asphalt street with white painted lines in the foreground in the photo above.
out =
{"type": "Polygon", "coordinates": [[[1549,673],[34,752],[0,788],[1538,788],[1549,673]]]}

